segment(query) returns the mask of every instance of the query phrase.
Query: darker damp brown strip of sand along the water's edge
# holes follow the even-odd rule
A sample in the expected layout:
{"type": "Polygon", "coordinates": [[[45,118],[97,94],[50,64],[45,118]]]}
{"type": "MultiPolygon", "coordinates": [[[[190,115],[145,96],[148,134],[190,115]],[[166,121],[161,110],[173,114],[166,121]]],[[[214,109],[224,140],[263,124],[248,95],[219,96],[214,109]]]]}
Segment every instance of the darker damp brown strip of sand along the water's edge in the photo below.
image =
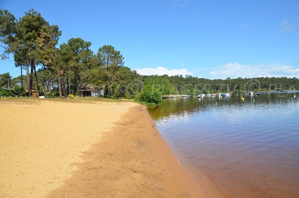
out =
{"type": "Polygon", "coordinates": [[[72,178],[47,198],[219,198],[210,184],[199,186],[177,163],[145,106],[131,107],[114,125],[82,156],[84,163],[78,165],[72,178]]]}

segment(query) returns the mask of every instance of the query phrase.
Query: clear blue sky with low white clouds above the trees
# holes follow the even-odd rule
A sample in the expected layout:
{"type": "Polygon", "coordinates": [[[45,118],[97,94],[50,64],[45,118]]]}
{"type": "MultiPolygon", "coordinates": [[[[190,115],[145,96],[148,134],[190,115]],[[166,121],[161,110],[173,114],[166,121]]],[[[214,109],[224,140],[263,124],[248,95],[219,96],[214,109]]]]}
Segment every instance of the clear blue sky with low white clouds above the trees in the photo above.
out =
{"type": "MultiPolygon", "coordinates": [[[[94,53],[113,45],[145,75],[299,78],[299,0],[0,0],[0,8],[17,18],[34,8],[62,30],[60,44],[81,37],[94,53]]],[[[19,75],[0,60],[4,72],[19,75]]]]}

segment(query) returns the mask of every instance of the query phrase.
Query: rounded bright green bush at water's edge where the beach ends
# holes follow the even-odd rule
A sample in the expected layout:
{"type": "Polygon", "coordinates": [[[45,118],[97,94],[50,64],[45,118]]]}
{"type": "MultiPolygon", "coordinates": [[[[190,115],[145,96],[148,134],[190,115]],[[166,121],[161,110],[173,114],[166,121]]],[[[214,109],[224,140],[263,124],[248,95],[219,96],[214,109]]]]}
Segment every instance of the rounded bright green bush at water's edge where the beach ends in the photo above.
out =
{"type": "Polygon", "coordinates": [[[146,84],[142,92],[135,98],[135,100],[149,104],[161,104],[162,93],[156,87],[146,84]]]}

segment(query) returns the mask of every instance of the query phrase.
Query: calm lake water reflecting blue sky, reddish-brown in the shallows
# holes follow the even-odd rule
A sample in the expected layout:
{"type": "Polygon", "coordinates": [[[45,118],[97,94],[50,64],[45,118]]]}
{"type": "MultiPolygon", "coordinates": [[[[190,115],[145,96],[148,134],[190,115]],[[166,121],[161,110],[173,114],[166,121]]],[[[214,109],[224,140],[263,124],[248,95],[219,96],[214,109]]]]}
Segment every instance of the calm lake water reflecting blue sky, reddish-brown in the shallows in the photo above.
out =
{"type": "Polygon", "coordinates": [[[225,198],[299,198],[299,92],[172,98],[148,111],[180,163],[225,198]]]}

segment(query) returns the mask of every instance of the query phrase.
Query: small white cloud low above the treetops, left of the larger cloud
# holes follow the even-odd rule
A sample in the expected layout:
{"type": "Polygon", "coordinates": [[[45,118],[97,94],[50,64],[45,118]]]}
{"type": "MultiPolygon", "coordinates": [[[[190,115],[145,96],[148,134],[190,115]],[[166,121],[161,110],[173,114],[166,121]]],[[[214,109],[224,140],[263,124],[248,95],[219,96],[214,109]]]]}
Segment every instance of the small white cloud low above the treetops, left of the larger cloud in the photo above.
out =
{"type": "Polygon", "coordinates": [[[187,69],[168,69],[165,67],[146,67],[146,68],[137,68],[135,69],[137,73],[141,75],[168,75],[168,76],[174,76],[174,75],[191,75],[193,72],[188,71],[187,69]]]}

